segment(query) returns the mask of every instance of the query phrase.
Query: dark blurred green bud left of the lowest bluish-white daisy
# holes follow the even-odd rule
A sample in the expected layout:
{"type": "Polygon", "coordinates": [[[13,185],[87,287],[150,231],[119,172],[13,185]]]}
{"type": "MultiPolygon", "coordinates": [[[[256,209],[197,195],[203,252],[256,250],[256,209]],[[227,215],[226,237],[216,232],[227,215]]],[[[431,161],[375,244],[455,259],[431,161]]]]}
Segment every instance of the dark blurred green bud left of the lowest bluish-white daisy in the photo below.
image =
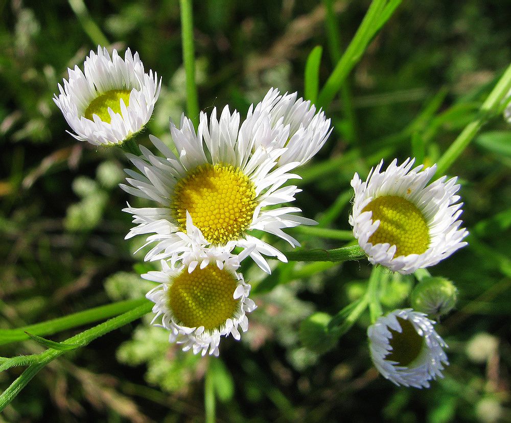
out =
{"type": "Polygon", "coordinates": [[[332,319],[327,313],[314,313],[301,322],[299,337],[301,343],[318,354],[326,353],[337,343],[335,337],[328,328],[332,319]]]}

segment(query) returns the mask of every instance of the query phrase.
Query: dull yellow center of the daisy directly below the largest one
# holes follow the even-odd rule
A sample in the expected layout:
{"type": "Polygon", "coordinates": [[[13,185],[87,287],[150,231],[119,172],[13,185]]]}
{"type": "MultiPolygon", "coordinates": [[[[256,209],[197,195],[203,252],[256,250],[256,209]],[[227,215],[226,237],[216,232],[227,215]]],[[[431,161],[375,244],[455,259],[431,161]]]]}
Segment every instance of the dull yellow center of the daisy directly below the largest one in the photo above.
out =
{"type": "Polygon", "coordinates": [[[238,307],[239,300],[233,297],[236,286],[236,277],[215,265],[192,273],[185,269],[169,289],[169,308],[184,326],[220,328],[238,307]]]}

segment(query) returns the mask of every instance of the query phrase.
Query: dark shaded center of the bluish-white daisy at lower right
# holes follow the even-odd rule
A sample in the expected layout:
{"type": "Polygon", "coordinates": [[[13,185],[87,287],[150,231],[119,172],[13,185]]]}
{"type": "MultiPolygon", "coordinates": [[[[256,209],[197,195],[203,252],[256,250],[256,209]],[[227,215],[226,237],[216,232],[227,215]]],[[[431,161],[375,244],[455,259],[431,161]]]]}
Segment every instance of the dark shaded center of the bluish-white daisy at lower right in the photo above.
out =
{"type": "Polygon", "coordinates": [[[407,320],[398,317],[401,326],[401,333],[388,327],[392,334],[389,340],[392,351],[385,357],[385,360],[396,361],[399,366],[406,367],[419,358],[424,347],[424,338],[417,333],[413,325],[407,320]]]}

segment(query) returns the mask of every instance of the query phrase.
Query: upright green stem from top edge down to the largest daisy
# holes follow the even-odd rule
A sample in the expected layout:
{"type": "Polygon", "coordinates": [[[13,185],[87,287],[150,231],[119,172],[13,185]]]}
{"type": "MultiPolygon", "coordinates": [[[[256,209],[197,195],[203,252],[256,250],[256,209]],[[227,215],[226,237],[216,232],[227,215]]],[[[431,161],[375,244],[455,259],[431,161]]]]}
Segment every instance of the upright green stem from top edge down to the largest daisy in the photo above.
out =
{"type": "Polygon", "coordinates": [[[188,116],[197,128],[199,122],[199,102],[195,84],[195,48],[193,43],[192,0],[179,0],[181,6],[181,37],[183,45],[184,72],[187,76],[188,116]]]}

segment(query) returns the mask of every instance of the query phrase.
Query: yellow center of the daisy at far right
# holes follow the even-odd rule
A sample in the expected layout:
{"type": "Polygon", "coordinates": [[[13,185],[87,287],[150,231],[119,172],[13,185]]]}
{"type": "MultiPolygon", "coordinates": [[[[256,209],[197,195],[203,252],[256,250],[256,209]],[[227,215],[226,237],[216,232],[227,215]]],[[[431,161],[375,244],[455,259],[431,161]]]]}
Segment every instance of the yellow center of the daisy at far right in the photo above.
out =
{"type": "Polygon", "coordinates": [[[373,245],[386,243],[396,246],[394,257],[422,254],[429,246],[426,219],[414,204],[396,195],[378,197],[367,204],[362,212],[373,212],[373,221],[380,226],[369,238],[373,245]]]}

